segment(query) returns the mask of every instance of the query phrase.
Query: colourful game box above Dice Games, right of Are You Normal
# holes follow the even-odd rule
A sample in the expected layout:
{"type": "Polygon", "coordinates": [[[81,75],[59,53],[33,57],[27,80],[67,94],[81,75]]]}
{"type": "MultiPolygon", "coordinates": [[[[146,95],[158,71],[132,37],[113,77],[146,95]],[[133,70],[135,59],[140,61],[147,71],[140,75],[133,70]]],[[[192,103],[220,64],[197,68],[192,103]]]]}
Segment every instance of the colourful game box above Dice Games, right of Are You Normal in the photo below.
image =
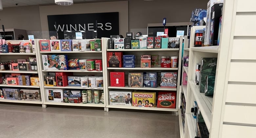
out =
{"type": "Polygon", "coordinates": [[[160,87],[177,88],[177,72],[161,72],[160,87]]]}

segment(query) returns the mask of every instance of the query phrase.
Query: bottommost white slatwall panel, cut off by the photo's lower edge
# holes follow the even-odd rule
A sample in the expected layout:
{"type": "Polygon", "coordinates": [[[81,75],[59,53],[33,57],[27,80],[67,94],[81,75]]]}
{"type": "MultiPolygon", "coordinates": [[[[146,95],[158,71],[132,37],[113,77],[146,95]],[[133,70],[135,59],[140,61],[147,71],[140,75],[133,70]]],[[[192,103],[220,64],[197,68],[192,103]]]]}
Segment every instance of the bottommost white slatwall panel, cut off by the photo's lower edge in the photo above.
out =
{"type": "Polygon", "coordinates": [[[222,138],[255,138],[256,127],[223,125],[222,138]]]}

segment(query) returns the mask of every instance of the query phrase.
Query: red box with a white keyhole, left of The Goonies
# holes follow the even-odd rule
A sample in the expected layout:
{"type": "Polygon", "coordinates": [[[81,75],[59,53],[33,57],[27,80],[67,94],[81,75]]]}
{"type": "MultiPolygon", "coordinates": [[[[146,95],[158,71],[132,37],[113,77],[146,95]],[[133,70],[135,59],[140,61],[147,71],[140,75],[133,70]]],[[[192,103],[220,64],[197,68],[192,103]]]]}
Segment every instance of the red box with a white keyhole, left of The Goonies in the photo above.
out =
{"type": "Polygon", "coordinates": [[[110,72],[110,86],[124,87],[124,72],[110,72]]]}

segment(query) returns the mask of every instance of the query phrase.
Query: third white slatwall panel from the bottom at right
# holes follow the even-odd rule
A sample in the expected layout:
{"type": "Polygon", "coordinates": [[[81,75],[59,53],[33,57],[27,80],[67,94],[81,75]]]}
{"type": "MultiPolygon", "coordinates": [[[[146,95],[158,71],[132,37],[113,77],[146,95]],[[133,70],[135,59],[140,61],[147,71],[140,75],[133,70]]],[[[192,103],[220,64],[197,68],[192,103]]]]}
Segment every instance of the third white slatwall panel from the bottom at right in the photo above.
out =
{"type": "Polygon", "coordinates": [[[228,84],[226,102],[256,104],[256,85],[228,84]]]}

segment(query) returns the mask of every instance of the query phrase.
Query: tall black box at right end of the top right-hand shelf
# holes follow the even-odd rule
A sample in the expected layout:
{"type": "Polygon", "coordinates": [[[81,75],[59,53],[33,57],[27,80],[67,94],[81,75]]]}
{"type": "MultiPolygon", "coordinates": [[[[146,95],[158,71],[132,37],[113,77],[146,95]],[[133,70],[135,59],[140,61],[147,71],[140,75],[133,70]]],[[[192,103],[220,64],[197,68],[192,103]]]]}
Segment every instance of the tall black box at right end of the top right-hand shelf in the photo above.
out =
{"type": "Polygon", "coordinates": [[[211,10],[210,46],[217,46],[221,9],[223,4],[214,4],[211,10]]]}

